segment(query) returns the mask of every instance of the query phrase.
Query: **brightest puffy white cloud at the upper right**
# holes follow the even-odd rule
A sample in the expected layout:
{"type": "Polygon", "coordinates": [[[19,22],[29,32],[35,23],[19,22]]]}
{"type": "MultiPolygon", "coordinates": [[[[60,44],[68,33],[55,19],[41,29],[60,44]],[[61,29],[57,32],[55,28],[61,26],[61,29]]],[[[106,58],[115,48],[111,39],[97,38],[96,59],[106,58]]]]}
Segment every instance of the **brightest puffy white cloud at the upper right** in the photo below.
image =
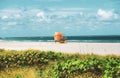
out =
{"type": "Polygon", "coordinates": [[[99,9],[97,11],[97,15],[101,17],[102,19],[112,19],[117,18],[117,14],[115,14],[113,11],[105,11],[103,9],[99,9]]]}

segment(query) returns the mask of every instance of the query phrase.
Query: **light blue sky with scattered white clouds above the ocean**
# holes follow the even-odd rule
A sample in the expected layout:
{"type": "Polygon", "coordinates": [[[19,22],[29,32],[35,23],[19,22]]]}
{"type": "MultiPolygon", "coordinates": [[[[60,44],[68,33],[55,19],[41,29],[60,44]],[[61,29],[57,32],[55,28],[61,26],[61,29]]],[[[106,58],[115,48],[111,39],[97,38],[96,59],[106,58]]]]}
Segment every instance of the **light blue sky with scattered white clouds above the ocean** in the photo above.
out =
{"type": "Polygon", "coordinates": [[[120,0],[0,0],[0,37],[120,35],[120,0]]]}

